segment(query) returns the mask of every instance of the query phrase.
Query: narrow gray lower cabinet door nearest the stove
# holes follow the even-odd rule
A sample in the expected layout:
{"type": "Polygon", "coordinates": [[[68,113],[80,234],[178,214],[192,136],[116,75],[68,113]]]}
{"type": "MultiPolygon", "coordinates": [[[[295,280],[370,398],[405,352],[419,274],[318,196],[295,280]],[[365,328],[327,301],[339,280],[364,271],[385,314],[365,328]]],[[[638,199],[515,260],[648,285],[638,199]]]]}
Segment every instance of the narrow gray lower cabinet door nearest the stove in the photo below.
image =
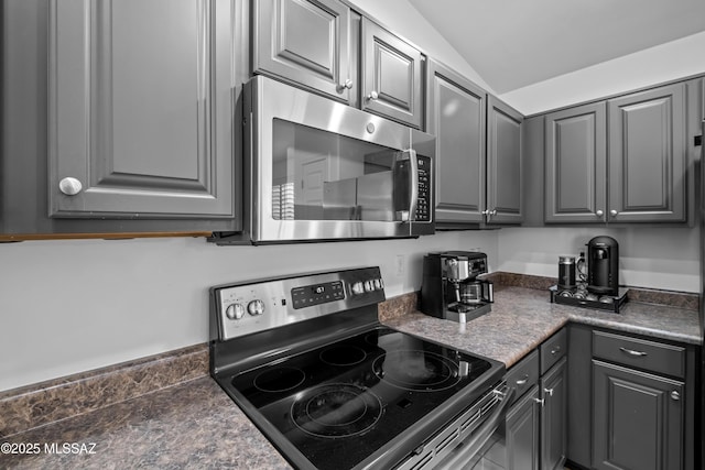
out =
{"type": "Polygon", "coordinates": [[[507,414],[507,470],[539,469],[539,389],[534,386],[507,414]]]}

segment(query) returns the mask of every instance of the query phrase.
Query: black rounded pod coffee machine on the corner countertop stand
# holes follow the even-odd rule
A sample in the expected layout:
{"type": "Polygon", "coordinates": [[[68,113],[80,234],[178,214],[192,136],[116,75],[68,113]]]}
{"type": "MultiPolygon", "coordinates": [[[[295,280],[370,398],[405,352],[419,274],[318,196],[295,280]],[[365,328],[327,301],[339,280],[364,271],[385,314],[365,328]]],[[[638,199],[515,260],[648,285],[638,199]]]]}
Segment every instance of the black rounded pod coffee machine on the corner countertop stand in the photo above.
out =
{"type": "Polygon", "coordinates": [[[619,243],[611,237],[595,237],[587,243],[587,291],[617,295],[619,291],[619,243]]]}

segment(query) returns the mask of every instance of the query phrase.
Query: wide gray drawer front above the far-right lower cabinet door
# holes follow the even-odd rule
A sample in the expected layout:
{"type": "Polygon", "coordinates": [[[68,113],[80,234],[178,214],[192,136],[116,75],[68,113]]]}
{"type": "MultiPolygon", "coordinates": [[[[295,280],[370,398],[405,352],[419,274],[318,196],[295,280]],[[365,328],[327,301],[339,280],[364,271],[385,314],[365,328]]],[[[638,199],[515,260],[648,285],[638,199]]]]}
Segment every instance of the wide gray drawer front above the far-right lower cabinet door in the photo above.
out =
{"type": "Polygon", "coordinates": [[[679,346],[594,331],[593,357],[651,372],[685,376],[685,348],[679,346]]]}

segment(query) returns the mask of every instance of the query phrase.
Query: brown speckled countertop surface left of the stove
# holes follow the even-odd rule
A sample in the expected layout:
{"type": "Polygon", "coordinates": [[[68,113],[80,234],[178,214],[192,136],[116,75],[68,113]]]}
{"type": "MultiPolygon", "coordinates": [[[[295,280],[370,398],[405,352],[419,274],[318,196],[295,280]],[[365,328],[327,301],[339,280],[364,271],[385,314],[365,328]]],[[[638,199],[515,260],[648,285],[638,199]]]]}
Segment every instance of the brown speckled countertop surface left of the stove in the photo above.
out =
{"type": "Polygon", "coordinates": [[[3,447],[2,469],[291,468],[209,376],[17,434],[2,442],[21,451],[13,455],[3,447]],[[30,447],[35,445],[39,447],[30,447]],[[58,450],[53,451],[52,445],[58,450]],[[32,453],[35,449],[39,452],[32,453]]]}

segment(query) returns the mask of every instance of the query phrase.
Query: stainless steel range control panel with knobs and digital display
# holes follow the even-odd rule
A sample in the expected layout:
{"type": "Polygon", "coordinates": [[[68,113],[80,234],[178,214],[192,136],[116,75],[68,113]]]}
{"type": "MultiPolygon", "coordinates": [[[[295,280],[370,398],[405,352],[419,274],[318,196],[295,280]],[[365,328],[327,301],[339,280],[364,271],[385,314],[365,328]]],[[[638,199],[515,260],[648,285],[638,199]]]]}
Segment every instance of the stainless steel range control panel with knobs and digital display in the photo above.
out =
{"type": "Polygon", "coordinates": [[[230,284],[210,288],[210,321],[227,340],[384,298],[379,267],[230,284]]]}

